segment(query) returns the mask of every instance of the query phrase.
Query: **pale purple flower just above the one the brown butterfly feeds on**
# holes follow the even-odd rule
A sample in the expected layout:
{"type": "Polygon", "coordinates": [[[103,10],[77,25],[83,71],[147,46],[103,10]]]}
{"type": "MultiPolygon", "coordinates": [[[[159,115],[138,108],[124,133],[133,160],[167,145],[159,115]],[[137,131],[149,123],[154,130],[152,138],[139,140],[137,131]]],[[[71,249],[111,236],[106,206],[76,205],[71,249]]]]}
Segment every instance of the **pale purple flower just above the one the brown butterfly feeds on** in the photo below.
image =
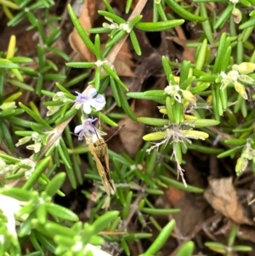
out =
{"type": "Polygon", "coordinates": [[[77,99],[75,100],[77,103],[82,104],[83,111],[86,114],[91,113],[91,107],[94,107],[96,111],[100,111],[105,106],[105,97],[102,94],[97,94],[95,88],[89,88],[88,93],[86,95],[78,94],[77,99]],[[94,98],[94,96],[97,96],[94,98]]]}

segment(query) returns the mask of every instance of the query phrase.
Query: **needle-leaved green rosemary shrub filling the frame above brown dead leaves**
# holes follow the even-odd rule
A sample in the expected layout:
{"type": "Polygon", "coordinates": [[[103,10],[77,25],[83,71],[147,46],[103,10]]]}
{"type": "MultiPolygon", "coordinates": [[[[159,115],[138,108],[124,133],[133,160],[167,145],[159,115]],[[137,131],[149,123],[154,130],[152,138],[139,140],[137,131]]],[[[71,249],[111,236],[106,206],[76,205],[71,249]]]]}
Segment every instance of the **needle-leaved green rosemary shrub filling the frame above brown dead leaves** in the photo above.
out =
{"type": "MultiPolygon", "coordinates": [[[[125,20],[105,0],[105,9],[98,12],[105,22],[88,30],[83,29],[68,4],[73,26],[94,55],[93,61],[78,62],[56,46],[62,31],[54,25],[60,18],[50,14],[54,1],[13,2],[0,0],[10,19],[8,26],[15,27],[27,19],[30,25],[26,29],[37,31],[39,40],[34,59],[16,55],[15,36],[10,37],[7,51],[0,53],[0,140],[4,145],[0,151],[0,255],[131,255],[130,244],[150,239],[151,232],[143,230],[151,227],[156,230],[156,238],[139,255],[156,256],[175,227],[174,220],[162,225],[156,216],[174,217],[180,211],[156,206],[156,196],[164,195],[169,186],[191,193],[204,191],[186,182],[184,154],[199,151],[218,158],[230,156],[235,159],[237,176],[251,161],[255,172],[255,48],[249,39],[254,27],[255,12],[250,9],[253,0],[223,0],[220,14],[208,12],[207,3],[213,0],[195,0],[189,5],[155,0],[149,22],[144,22],[141,14],[146,1],[140,0],[125,20]],[[18,9],[14,17],[9,9],[18,9]],[[143,56],[139,33],[177,29],[187,20],[202,29],[195,42],[185,44],[195,48],[194,61],[177,62],[162,55],[159,69],[166,77],[163,86],[129,92],[114,66],[122,44],[129,40],[133,53],[143,56]],[[229,29],[219,35],[223,27],[229,29]],[[104,43],[103,34],[107,35],[104,43]],[[62,65],[48,58],[49,53],[62,65]],[[70,68],[81,73],[70,78],[70,68]],[[84,79],[86,89],[72,89],[84,79]],[[18,91],[7,95],[7,86],[18,91]],[[107,90],[111,90],[110,95],[107,90]],[[42,105],[16,103],[27,92],[35,94],[42,105]],[[156,117],[136,117],[130,105],[132,99],[154,101],[158,106],[156,117]],[[117,111],[112,111],[112,102],[117,111]],[[108,156],[105,134],[96,128],[96,122],[116,128],[119,119],[126,116],[150,127],[143,136],[144,145],[134,157],[111,150],[108,156]],[[76,126],[71,123],[74,118],[78,120],[76,126]],[[102,141],[104,148],[100,151],[102,141]],[[16,155],[15,146],[25,149],[25,145],[31,154],[16,155]],[[88,169],[83,177],[81,155],[85,153],[88,169]],[[93,203],[84,223],[71,209],[54,203],[56,195],[65,196],[61,187],[66,177],[73,190],[82,185],[84,178],[97,188],[82,191],[93,203]],[[130,224],[135,226],[132,231],[130,224]],[[31,242],[32,252],[26,242],[31,242]],[[104,246],[113,248],[111,254],[104,252],[104,246]]],[[[132,4],[132,0],[127,1],[126,14],[132,4]]],[[[251,247],[234,246],[236,230],[234,226],[227,245],[205,245],[228,256],[250,251],[251,247]]],[[[194,251],[195,243],[185,241],[176,255],[191,256],[194,251]]]]}

